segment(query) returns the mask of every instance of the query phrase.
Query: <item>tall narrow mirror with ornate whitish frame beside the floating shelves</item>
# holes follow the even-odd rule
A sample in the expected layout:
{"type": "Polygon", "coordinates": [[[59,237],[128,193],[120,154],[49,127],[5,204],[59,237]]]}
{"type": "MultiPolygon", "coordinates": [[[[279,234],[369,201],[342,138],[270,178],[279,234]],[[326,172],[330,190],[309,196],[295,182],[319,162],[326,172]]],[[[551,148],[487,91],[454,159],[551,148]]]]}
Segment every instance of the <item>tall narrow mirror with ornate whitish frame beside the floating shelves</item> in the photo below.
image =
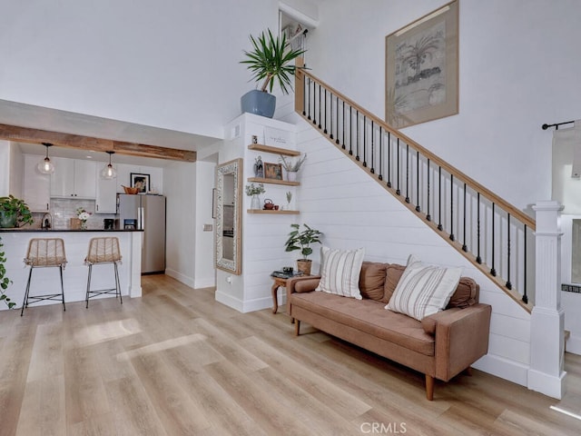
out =
{"type": "Polygon", "coordinates": [[[242,160],[216,169],[216,268],[240,275],[242,227],[242,160]]]}

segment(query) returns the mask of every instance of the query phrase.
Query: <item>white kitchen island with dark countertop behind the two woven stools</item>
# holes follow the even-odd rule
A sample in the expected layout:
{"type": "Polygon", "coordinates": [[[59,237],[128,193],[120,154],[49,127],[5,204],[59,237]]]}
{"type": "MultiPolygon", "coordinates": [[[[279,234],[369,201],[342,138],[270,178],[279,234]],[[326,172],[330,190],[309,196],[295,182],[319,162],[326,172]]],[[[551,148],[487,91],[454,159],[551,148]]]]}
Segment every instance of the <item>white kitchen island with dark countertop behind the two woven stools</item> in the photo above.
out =
{"type": "MultiPolygon", "coordinates": [[[[6,276],[12,281],[5,294],[21,307],[25,298],[26,281],[30,267],[24,259],[28,243],[33,238],[61,238],[64,240],[66,266],[63,272],[64,302],[82,302],[85,299],[87,287],[88,266],[84,258],[89,248],[89,240],[96,237],[119,238],[122,263],[119,265],[119,282],[123,296],[142,296],[142,236],[140,230],[38,230],[38,229],[0,229],[0,237],[4,243],[6,276]]],[[[112,264],[94,265],[91,289],[114,287],[112,264]]],[[[30,294],[60,293],[61,283],[58,268],[34,268],[30,294]]],[[[97,298],[114,298],[113,295],[103,295],[97,298]]],[[[60,304],[60,302],[44,301],[30,305],[60,304]]],[[[91,306],[89,306],[91,307],[91,306]]],[[[0,310],[6,309],[0,303],[0,310]]],[[[84,306],[83,306],[84,308],[84,306]]]]}

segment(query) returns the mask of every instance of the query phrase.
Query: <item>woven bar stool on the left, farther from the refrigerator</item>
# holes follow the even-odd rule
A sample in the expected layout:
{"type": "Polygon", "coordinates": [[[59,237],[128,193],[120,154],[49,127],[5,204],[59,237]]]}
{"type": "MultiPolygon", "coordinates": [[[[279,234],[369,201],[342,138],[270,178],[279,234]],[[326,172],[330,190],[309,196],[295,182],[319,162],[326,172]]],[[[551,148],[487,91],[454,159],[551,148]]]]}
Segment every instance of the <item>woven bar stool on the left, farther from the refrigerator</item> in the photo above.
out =
{"type": "Polygon", "coordinates": [[[54,300],[63,302],[63,311],[66,311],[64,306],[64,286],[63,286],[63,270],[66,263],[66,256],[64,254],[64,241],[60,238],[33,238],[28,243],[28,252],[26,253],[25,263],[30,265],[30,272],[28,273],[28,282],[26,282],[25,301],[22,303],[22,310],[20,316],[25,313],[25,307],[34,302],[42,302],[43,300],[54,300]],[[61,274],[61,293],[49,293],[44,295],[30,295],[30,282],[33,276],[34,268],[58,266],[61,274]]]}

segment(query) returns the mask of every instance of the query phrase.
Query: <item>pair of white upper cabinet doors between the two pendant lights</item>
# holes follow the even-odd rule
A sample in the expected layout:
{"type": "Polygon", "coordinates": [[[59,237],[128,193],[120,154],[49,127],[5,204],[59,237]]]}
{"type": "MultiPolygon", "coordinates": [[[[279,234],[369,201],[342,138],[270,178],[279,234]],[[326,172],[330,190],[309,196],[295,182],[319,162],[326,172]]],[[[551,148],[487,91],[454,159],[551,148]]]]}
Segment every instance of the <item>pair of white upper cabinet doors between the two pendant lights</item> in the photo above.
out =
{"type": "Polygon", "coordinates": [[[54,157],[51,197],[94,200],[97,193],[97,163],[54,157]]]}

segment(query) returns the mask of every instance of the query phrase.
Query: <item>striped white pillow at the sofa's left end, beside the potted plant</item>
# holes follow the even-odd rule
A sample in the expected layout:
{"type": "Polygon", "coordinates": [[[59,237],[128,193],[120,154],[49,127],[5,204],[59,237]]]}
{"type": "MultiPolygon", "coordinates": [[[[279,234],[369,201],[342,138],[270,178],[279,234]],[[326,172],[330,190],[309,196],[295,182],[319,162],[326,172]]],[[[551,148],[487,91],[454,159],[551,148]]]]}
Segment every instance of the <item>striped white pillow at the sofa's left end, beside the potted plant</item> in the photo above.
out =
{"type": "Polygon", "coordinates": [[[321,251],[320,282],[315,291],[361,300],[359,273],[365,250],[331,250],[323,246],[321,251]]]}

